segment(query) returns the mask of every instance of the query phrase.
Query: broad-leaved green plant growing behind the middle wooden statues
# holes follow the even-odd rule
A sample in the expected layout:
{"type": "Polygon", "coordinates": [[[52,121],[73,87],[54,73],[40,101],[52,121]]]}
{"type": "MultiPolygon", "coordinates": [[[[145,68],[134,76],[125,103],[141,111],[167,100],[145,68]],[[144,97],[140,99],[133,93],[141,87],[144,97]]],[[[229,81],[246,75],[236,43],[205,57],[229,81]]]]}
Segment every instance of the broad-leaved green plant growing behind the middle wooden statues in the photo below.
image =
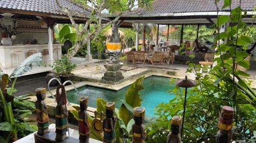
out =
{"type": "MultiPolygon", "coordinates": [[[[120,101],[122,103],[120,109],[117,109],[117,108],[115,109],[115,116],[119,119],[117,121],[116,128],[115,128],[117,142],[123,142],[123,140],[125,140],[125,142],[127,141],[126,139],[128,138],[128,136],[126,135],[129,134],[129,131],[132,128],[132,124],[134,123],[134,121],[132,120],[133,108],[137,106],[141,106],[142,99],[140,99],[139,91],[143,90],[143,87],[142,87],[143,80],[144,80],[144,76],[138,78],[131,85],[131,87],[128,89],[128,91],[125,94],[125,100],[120,100],[120,99],[115,100],[115,101],[120,101]],[[123,139],[121,139],[121,137],[123,137],[123,139]]],[[[101,98],[97,98],[96,104],[97,104],[97,112],[103,111],[105,113],[106,101],[104,101],[101,98]]],[[[79,107],[74,106],[74,108],[76,110],[71,110],[70,112],[78,120],[79,107]]],[[[93,118],[90,116],[88,117],[89,117],[90,126],[92,126],[93,118]]],[[[97,118],[100,118],[100,117],[97,117],[97,118]]],[[[92,127],[91,127],[90,135],[92,138],[95,138],[101,141],[103,140],[102,134],[97,133],[92,127]]]]}

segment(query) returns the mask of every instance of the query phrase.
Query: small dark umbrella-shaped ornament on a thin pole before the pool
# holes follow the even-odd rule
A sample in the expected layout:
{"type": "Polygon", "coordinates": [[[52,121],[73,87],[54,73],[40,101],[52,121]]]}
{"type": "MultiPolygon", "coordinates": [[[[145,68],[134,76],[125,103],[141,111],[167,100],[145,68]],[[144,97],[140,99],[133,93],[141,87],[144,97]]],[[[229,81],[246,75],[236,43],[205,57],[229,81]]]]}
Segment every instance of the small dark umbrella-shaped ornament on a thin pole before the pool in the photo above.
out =
{"type": "Polygon", "coordinates": [[[187,78],[185,76],[185,79],[179,79],[176,82],[176,85],[181,88],[185,88],[185,100],[184,100],[184,109],[183,109],[183,117],[182,117],[182,125],[181,125],[181,136],[183,131],[183,125],[185,120],[185,111],[186,111],[186,99],[187,99],[187,88],[195,87],[197,84],[197,81],[187,78]]]}

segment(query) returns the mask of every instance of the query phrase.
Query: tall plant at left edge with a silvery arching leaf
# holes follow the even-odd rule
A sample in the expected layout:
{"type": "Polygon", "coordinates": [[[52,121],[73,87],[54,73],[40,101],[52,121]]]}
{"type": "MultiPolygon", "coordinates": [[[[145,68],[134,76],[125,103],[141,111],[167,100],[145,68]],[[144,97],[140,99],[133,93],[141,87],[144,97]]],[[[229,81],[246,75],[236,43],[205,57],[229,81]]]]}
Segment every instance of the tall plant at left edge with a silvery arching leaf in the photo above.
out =
{"type": "MultiPolygon", "coordinates": [[[[1,142],[9,142],[9,140],[16,140],[17,139],[17,129],[16,129],[16,122],[19,122],[18,120],[14,119],[17,115],[18,119],[22,120],[22,118],[25,117],[25,115],[22,115],[20,113],[27,113],[27,110],[20,110],[18,114],[15,114],[15,111],[13,110],[12,104],[15,106],[15,104],[22,103],[18,98],[14,98],[12,96],[12,93],[16,90],[14,89],[14,85],[16,83],[17,77],[22,76],[26,72],[30,71],[33,67],[33,65],[40,66],[42,62],[42,55],[41,53],[35,53],[29,56],[22,64],[20,64],[17,68],[14,69],[13,73],[8,75],[3,72],[0,72],[0,97],[1,97],[1,106],[3,108],[3,122],[0,123],[0,130],[5,131],[6,134],[3,134],[3,136],[0,136],[1,142]],[[11,78],[14,77],[14,80],[11,84],[11,87],[8,87],[8,81],[11,80],[11,78]],[[14,111],[14,113],[13,113],[14,111]],[[14,116],[15,115],[15,116],[14,116]]],[[[25,102],[25,101],[23,101],[25,102]]],[[[29,105],[27,105],[29,106],[29,105]]],[[[19,108],[22,108],[20,106],[19,108]]]]}

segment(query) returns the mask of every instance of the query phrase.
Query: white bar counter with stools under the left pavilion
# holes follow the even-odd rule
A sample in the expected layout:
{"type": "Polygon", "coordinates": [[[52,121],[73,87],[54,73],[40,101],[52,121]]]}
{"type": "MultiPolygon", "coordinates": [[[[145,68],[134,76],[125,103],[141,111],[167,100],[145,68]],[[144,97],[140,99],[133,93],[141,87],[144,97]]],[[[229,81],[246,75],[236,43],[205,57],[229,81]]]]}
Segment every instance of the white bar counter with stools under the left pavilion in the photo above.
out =
{"type": "MultiPolygon", "coordinates": [[[[53,49],[57,48],[58,52],[53,53],[54,56],[58,54],[61,55],[61,46],[63,44],[53,44],[53,49]]],[[[31,44],[31,45],[11,45],[11,46],[3,46],[0,45],[0,68],[2,69],[10,69],[13,68],[14,64],[12,63],[12,55],[13,51],[22,50],[24,52],[25,59],[28,57],[29,50],[36,50],[37,52],[42,52],[43,49],[48,49],[48,44],[31,44]]],[[[14,55],[16,59],[16,55],[14,55]]],[[[46,57],[47,59],[48,56],[46,57]]],[[[19,57],[19,60],[22,60],[22,56],[19,57]]],[[[16,64],[16,63],[15,63],[16,64]]]]}

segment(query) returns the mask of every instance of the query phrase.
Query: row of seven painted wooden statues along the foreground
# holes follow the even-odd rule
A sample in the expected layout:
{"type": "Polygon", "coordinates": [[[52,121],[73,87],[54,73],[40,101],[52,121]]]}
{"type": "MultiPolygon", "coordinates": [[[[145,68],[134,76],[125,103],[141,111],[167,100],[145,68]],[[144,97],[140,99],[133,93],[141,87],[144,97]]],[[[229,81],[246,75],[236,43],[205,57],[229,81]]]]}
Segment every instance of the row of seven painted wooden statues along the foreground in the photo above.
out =
{"type": "MultiPolygon", "coordinates": [[[[46,98],[46,89],[39,88],[36,89],[36,112],[37,112],[37,127],[38,131],[35,134],[35,142],[45,143],[50,142],[50,139],[45,137],[44,139],[39,139],[39,136],[46,135],[49,127],[49,117],[47,106],[44,101],[46,98]],[[37,137],[36,137],[37,136],[37,137]],[[47,141],[46,141],[47,140],[47,141]]],[[[59,85],[56,91],[56,100],[57,106],[55,109],[55,120],[56,120],[56,136],[55,140],[52,142],[65,142],[68,138],[66,132],[69,131],[68,128],[68,110],[67,110],[67,99],[65,87],[59,85]],[[61,90],[61,92],[59,91],[61,90]]],[[[79,142],[80,143],[89,143],[90,139],[90,123],[88,120],[89,114],[87,113],[88,108],[88,97],[81,97],[80,101],[80,110],[78,112],[78,128],[79,128],[79,142]]],[[[233,124],[233,108],[229,106],[223,106],[221,111],[221,116],[219,118],[219,132],[217,134],[217,143],[230,143],[232,138],[232,124],[233,124]]],[[[145,109],[141,107],[134,108],[134,121],[135,124],[132,126],[132,142],[133,143],[144,143],[146,139],[146,133],[143,125],[145,117],[145,109]]],[[[115,117],[115,103],[109,102],[106,103],[105,118],[102,121],[102,124],[98,127],[103,131],[103,142],[116,142],[116,133],[115,126],[117,122],[115,117]]],[[[171,120],[171,131],[167,136],[167,143],[179,143],[181,142],[180,135],[180,125],[182,118],[181,116],[174,116],[171,120]]],[[[93,125],[95,128],[95,126],[93,125]]],[[[97,128],[97,127],[96,127],[97,128]]],[[[73,142],[76,143],[76,142],[73,142]]]]}

